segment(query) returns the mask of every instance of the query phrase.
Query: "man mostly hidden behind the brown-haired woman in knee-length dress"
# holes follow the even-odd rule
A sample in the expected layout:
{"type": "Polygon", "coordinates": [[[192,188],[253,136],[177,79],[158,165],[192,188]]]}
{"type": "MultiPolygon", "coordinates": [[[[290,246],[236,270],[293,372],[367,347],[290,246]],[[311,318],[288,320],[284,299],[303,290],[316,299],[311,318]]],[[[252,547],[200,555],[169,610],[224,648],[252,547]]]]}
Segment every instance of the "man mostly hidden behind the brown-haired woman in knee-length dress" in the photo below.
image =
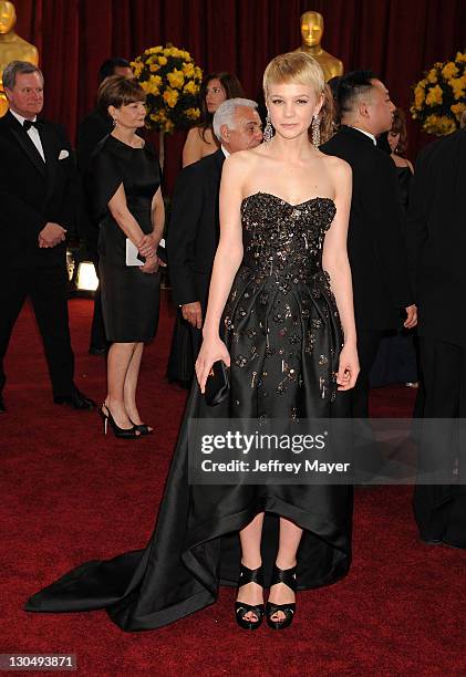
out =
{"type": "MultiPolygon", "coordinates": [[[[103,62],[99,70],[99,85],[111,75],[124,75],[134,77],[130,62],[126,59],[115,56],[103,62]]],[[[97,237],[99,223],[95,223],[89,209],[89,200],[85,196],[84,176],[89,167],[89,162],[95,150],[96,145],[104,136],[112,132],[113,125],[110,115],[102,112],[99,107],[89,113],[77,127],[76,157],[77,169],[82,181],[82,200],[80,202],[80,235],[86,243],[87,252],[94,263],[95,272],[99,275],[99,254],[97,237]]],[[[102,315],[101,289],[97,288],[94,294],[94,315],[92,319],[91,341],[89,352],[91,355],[104,355],[107,342],[105,337],[104,320],[102,315]]]]}

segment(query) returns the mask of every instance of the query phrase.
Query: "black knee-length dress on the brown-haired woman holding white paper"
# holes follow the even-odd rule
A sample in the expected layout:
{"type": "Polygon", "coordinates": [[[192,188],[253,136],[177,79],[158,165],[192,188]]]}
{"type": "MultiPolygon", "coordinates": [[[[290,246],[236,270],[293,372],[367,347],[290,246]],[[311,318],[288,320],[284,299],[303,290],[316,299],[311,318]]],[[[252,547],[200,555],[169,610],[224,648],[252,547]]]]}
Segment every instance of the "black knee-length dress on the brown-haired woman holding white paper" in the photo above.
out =
{"type": "Polygon", "coordinates": [[[132,148],[112,135],[97,146],[86,176],[99,231],[102,310],[108,341],[131,343],[154,338],[159,312],[160,274],[126,265],[126,236],[108,210],[123,184],[126,204],[141,230],[153,230],[152,199],[160,185],[160,167],[152,146],[132,148]]]}

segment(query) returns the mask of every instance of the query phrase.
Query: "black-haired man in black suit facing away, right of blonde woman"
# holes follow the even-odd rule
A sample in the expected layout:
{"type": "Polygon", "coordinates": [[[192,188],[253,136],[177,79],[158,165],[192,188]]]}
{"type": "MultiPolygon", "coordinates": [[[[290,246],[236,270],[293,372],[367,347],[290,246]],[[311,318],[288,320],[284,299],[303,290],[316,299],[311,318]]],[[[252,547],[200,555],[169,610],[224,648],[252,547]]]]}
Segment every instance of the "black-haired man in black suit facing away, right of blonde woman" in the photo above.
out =
{"type": "Polygon", "coordinates": [[[352,414],[369,416],[369,375],[383,333],[416,324],[408,281],[395,165],[376,147],[392,126],[395,106],[370,71],[344,75],[338,87],[339,132],[321,150],[346,160],[353,170],[348,253],[353,278],[354,314],[361,372],[352,392],[352,414]]]}

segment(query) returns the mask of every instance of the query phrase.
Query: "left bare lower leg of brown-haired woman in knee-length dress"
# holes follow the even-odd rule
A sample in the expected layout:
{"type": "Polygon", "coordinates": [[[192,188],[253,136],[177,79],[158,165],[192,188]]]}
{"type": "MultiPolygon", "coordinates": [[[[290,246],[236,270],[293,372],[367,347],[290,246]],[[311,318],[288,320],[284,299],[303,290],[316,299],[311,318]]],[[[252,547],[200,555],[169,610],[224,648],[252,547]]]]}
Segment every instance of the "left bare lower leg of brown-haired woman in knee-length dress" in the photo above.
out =
{"type": "Polygon", "coordinates": [[[125,382],[136,343],[112,343],[107,357],[107,396],[105,406],[121,428],[132,428],[126,413],[125,382]]]}

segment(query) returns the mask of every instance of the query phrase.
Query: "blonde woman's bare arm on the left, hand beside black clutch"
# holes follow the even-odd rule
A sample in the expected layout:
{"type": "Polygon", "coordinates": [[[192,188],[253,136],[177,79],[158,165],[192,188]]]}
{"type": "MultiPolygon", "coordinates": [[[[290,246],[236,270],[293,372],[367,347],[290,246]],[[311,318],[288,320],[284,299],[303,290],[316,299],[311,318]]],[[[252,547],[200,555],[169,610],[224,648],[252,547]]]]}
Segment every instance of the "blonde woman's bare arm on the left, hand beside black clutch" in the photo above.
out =
{"type": "Polygon", "coordinates": [[[242,153],[237,153],[224,163],[220,185],[220,241],[215,254],[210,280],[209,300],[204,323],[204,342],[196,362],[196,374],[204,393],[211,365],[222,360],[229,366],[229,355],[220,341],[221,314],[235,274],[242,260],[241,200],[246,163],[242,153]]]}

